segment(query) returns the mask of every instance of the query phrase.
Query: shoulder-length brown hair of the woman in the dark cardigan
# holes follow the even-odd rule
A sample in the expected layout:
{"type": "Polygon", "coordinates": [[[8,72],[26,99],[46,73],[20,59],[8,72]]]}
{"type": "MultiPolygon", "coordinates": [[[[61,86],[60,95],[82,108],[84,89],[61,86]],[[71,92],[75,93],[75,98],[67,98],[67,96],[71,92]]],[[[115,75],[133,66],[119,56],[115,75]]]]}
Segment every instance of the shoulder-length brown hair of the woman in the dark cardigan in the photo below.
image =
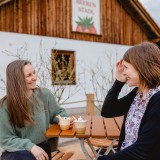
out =
{"type": "Polygon", "coordinates": [[[160,85],[160,49],[156,44],[138,44],[127,50],[123,59],[138,71],[142,88],[160,85]]]}

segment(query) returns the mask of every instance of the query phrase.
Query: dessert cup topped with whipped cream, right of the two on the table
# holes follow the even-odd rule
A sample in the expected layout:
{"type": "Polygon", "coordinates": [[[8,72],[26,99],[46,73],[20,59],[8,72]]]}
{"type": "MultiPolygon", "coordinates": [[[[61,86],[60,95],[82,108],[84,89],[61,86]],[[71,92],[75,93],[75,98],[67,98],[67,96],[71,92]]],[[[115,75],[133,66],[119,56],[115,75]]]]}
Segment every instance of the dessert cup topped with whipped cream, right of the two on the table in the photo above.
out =
{"type": "Polygon", "coordinates": [[[74,121],[75,130],[78,134],[83,134],[86,131],[87,120],[83,119],[81,116],[74,121]]]}

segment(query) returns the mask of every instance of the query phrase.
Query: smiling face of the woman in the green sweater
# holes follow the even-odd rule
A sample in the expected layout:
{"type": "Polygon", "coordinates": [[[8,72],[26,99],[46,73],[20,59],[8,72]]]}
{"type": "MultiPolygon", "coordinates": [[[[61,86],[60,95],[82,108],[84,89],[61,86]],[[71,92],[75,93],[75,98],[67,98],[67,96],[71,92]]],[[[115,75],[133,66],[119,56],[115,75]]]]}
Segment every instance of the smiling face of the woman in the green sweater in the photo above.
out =
{"type": "Polygon", "coordinates": [[[37,74],[31,64],[27,64],[23,68],[25,82],[28,91],[32,91],[36,88],[37,74]]]}

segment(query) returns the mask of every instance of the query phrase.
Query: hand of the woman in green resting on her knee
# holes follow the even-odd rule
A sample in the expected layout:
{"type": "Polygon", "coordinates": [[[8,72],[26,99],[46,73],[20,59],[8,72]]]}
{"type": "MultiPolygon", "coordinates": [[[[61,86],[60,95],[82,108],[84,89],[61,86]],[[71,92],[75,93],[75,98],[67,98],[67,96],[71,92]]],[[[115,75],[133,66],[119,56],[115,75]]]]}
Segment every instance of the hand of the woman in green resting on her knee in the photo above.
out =
{"type": "Polygon", "coordinates": [[[36,160],[49,160],[48,154],[37,145],[32,147],[31,153],[35,156],[36,160]]]}

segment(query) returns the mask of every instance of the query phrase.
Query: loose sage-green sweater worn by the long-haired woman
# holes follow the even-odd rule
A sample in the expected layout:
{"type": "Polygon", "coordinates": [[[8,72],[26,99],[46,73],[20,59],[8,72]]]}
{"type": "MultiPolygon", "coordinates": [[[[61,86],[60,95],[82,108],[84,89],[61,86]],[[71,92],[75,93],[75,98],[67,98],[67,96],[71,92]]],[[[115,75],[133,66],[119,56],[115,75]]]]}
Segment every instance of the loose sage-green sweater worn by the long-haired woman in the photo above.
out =
{"type": "Polygon", "coordinates": [[[57,115],[68,117],[66,111],[59,106],[48,89],[38,88],[34,93],[38,99],[37,107],[31,105],[35,125],[27,123],[24,128],[10,125],[6,100],[0,107],[0,146],[4,150],[9,152],[30,151],[34,144],[47,140],[45,131],[49,128],[50,123],[58,123],[57,115]]]}

